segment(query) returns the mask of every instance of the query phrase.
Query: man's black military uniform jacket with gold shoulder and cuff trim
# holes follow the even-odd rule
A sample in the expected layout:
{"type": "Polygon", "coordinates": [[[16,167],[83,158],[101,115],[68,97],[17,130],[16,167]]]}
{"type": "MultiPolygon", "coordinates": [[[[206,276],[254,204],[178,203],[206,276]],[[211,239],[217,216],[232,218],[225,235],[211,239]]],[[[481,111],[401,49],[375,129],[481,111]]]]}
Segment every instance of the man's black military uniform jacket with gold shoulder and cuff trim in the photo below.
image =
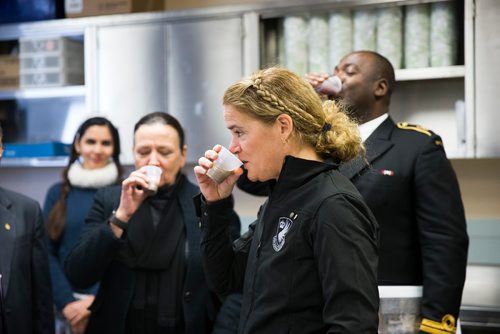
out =
{"type": "Polygon", "coordinates": [[[424,320],[435,333],[448,333],[453,326],[442,320],[459,313],[468,237],[460,189],[441,138],[388,118],[365,145],[369,165],[358,160],[340,171],[380,225],[379,284],[423,285],[424,320]]]}

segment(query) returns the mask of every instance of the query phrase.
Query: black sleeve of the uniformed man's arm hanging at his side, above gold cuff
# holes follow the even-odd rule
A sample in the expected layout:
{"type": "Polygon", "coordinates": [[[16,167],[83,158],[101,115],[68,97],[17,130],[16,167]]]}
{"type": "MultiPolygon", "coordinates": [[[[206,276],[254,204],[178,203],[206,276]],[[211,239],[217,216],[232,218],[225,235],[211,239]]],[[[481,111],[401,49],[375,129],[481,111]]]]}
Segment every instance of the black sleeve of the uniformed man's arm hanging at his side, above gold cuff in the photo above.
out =
{"type": "Polygon", "coordinates": [[[423,266],[422,316],[457,319],[467,266],[468,236],[458,181],[440,138],[432,136],[415,168],[414,198],[423,266]]]}

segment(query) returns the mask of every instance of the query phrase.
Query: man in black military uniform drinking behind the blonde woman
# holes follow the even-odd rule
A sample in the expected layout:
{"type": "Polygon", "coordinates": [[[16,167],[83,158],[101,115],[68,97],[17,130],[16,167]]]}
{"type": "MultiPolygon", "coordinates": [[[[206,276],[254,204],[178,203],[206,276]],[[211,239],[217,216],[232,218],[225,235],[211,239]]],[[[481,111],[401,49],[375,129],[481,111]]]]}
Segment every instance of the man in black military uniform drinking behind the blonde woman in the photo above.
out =
{"type": "MultiPolygon", "coordinates": [[[[424,333],[454,333],[468,236],[457,178],[441,138],[395,124],[389,113],[394,69],[383,56],[353,52],[335,67],[339,99],[360,123],[366,157],[340,167],[380,224],[380,285],[422,285],[424,333]]],[[[325,76],[308,75],[313,86],[325,76]]]]}

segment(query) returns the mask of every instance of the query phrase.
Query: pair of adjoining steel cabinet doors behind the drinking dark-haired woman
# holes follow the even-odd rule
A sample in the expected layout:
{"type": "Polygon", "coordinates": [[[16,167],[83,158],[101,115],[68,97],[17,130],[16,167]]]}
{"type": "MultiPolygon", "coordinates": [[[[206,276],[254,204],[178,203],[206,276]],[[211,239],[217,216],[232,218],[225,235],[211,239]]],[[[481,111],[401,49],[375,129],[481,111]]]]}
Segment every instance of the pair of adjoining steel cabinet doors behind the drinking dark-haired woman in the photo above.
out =
{"type": "Polygon", "coordinates": [[[241,15],[97,28],[97,110],[118,126],[125,162],[134,123],[152,111],[179,119],[188,162],[228,144],[222,95],[243,74],[242,29],[241,15]]]}

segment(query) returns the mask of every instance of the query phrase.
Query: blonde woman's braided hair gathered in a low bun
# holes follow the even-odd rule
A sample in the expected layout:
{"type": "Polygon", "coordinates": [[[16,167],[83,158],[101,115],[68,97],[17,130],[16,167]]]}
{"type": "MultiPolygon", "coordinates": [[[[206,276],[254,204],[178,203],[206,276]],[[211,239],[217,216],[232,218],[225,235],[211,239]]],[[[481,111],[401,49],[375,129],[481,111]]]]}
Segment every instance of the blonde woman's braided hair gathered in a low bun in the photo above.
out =
{"type": "Polygon", "coordinates": [[[294,136],[323,159],[349,161],[364,151],[357,124],[343,108],[333,101],[322,105],[313,87],[287,69],[270,67],[241,79],[226,90],[223,103],[266,124],[289,115],[294,136]]]}

